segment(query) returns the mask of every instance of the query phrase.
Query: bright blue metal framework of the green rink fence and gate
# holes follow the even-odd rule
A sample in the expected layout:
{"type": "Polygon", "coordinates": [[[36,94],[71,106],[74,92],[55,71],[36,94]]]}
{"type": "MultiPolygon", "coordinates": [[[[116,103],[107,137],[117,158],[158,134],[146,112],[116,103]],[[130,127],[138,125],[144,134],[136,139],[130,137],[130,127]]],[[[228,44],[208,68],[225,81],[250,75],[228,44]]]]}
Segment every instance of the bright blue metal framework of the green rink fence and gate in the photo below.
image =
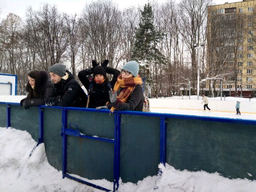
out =
{"type": "MultiPolygon", "coordinates": [[[[10,118],[10,106],[11,105],[20,105],[20,103],[12,102],[0,102],[0,104],[6,105],[6,127],[11,126],[10,118]]],[[[137,111],[114,111],[114,139],[101,138],[101,137],[92,137],[89,135],[81,134],[78,127],[77,129],[67,128],[67,111],[87,111],[87,112],[98,112],[98,113],[110,113],[110,110],[95,110],[92,108],[78,108],[78,107],[58,107],[58,106],[38,106],[39,109],[39,139],[38,144],[43,142],[43,108],[54,108],[62,110],[62,175],[63,178],[68,177],[73,180],[85,183],[86,185],[98,188],[103,191],[111,191],[104,187],[94,185],[93,183],[83,181],[79,178],[70,176],[66,173],[67,169],[67,136],[72,135],[75,137],[82,137],[87,139],[100,140],[102,142],[109,142],[114,144],[114,185],[113,191],[117,191],[119,187],[119,178],[120,178],[120,140],[121,140],[121,116],[122,115],[137,115],[137,116],[146,116],[146,117],[159,117],[160,118],[160,154],[159,161],[161,164],[165,165],[166,162],[166,134],[167,134],[167,118],[171,119],[194,119],[199,121],[213,121],[213,122],[225,122],[225,123],[239,123],[239,124],[252,124],[256,125],[255,120],[246,120],[246,119],[230,119],[222,117],[205,117],[205,116],[193,116],[193,115],[182,115],[182,114],[167,114],[167,113],[147,113],[147,112],[137,112],[137,111]]],[[[111,114],[111,113],[110,113],[111,114]]],[[[37,144],[37,145],[38,145],[37,144]]],[[[158,179],[161,177],[161,170],[158,172],[158,179]]],[[[157,185],[156,185],[157,187],[157,185]]]]}

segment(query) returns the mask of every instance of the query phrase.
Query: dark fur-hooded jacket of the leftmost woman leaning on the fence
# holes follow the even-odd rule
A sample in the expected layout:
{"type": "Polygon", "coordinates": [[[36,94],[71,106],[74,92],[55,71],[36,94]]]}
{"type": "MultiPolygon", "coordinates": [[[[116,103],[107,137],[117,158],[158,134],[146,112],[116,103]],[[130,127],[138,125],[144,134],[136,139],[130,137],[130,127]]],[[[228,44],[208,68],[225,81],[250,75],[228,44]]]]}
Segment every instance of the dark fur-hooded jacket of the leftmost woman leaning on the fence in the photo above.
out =
{"type": "MultiPolygon", "coordinates": [[[[27,85],[25,87],[25,90],[27,92],[28,92],[28,86],[31,86],[29,84],[29,81],[27,82],[27,85]]],[[[38,82],[36,82],[36,85],[34,87],[34,89],[36,89],[40,97],[35,97],[34,95],[32,95],[32,98],[28,98],[27,96],[26,98],[23,98],[20,101],[20,105],[23,106],[23,102],[25,102],[24,104],[26,104],[28,107],[45,105],[46,98],[52,91],[52,88],[53,88],[53,83],[49,79],[49,74],[46,71],[40,71],[39,80],[38,82]]]]}

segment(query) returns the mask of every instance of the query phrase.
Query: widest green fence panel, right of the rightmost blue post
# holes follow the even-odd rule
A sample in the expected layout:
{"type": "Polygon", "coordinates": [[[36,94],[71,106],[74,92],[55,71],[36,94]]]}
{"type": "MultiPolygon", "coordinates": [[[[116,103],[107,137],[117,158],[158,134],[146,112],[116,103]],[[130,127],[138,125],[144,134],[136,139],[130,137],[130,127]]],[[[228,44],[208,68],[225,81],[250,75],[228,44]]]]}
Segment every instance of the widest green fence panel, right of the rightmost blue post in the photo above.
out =
{"type": "Polygon", "coordinates": [[[255,135],[254,125],[168,118],[166,162],[175,169],[254,180],[255,135]]]}

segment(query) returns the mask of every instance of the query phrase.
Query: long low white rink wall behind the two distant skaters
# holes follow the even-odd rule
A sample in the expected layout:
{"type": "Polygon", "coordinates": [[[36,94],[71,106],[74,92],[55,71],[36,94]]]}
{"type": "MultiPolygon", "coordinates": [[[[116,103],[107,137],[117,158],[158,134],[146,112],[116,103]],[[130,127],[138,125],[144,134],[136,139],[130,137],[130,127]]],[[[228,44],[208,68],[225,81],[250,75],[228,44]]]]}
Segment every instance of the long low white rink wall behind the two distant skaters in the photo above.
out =
{"type": "MultiPolygon", "coordinates": [[[[203,110],[202,100],[178,100],[178,99],[149,99],[152,108],[172,108],[186,110],[203,110]]],[[[209,100],[208,107],[213,111],[236,111],[236,101],[214,101],[209,100]]],[[[241,112],[256,113],[256,102],[241,101],[241,112]]]]}

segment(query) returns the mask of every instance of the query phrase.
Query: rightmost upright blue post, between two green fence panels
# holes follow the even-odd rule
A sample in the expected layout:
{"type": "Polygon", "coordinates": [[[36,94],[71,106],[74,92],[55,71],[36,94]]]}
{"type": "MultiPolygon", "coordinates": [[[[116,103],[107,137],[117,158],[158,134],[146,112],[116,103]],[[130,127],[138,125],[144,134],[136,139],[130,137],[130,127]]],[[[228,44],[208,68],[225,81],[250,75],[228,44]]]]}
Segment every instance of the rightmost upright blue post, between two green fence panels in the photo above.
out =
{"type": "Polygon", "coordinates": [[[160,118],[160,163],[166,162],[166,118],[160,118]]]}

